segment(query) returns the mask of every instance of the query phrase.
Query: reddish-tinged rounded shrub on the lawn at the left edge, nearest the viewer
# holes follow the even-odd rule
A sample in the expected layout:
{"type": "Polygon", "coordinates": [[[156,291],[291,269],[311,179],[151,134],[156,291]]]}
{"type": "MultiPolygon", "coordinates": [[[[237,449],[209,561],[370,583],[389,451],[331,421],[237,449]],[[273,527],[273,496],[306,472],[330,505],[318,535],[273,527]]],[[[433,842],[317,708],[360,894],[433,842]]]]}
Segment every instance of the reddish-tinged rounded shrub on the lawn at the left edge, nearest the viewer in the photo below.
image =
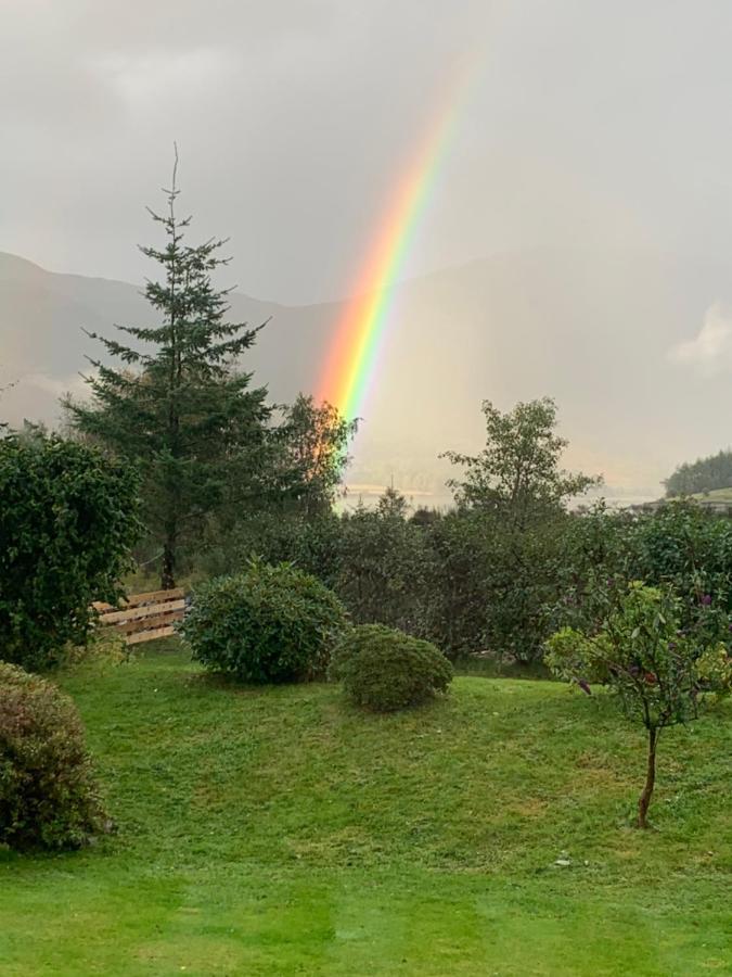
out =
{"type": "Polygon", "coordinates": [[[50,682],[0,662],[0,842],[76,848],[103,824],[74,703],[50,682]]]}

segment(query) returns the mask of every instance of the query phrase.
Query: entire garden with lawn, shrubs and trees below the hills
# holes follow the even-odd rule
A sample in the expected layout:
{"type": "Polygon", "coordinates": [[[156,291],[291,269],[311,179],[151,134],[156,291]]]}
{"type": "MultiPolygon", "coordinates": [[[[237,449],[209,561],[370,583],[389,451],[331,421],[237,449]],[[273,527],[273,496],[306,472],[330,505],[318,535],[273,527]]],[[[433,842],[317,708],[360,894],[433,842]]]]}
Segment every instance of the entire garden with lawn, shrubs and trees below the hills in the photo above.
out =
{"type": "Polygon", "coordinates": [[[0,431],[0,973],[729,972],[730,519],[578,506],[549,398],[338,513],[170,203],[154,351],[0,431]]]}

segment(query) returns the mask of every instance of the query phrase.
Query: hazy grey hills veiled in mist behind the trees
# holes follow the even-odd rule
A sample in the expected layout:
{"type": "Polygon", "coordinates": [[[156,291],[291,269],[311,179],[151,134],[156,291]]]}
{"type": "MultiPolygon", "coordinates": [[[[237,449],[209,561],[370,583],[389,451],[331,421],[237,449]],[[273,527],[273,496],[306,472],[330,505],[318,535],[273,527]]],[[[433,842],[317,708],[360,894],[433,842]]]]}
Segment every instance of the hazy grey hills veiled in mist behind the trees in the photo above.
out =
{"type": "MultiPolygon", "coordinates": [[[[226,284],[226,282],[221,282],[226,284]]],[[[394,288],[354,483],[437,498],[446,448],[483,441],[480,402],[557,401],[566,462],[609,492],[657,494],[682,460],[727,447],[732,408],[732,264],[591,249],[499,254],[394,288]]],[[[318,383],[346,303],[285,306],[241,292],[231,318],[269,319],[246,358],[273,401],[318,383]]],[[[137,286],[46,271],[0,253],[0,414],[53,423],[84,394],[84,332],[150,325],[137,286]]]]}

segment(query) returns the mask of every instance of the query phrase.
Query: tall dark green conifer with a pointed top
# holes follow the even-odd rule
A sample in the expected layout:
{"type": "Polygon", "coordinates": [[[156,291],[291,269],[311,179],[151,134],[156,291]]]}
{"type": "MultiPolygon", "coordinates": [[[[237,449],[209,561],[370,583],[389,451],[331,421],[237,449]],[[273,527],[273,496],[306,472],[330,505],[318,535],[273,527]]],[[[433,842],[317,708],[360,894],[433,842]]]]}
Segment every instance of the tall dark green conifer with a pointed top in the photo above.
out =
{"type": "Polygon", "coordinates": [[[239,357],[261,329],[226,321],[230,290],[217,290],[211,274],[228,258],[226,240],[184,242],[191,217],[179,219],[179,190],[165,190],[167,213],[150,211],[165,246],[141,248],[162,268],[144,295],[159,325],[117,326],[129,341],[89,333],[106,350],[90,359],[90,403],[66,402],[72,424],[116,455],[139,464],[151,534],[162,545],[160,586],[176,583],[181,547],[205,519],[232,496],[256,492],[270,410],[266,388],[252,386],[239,357]]]}

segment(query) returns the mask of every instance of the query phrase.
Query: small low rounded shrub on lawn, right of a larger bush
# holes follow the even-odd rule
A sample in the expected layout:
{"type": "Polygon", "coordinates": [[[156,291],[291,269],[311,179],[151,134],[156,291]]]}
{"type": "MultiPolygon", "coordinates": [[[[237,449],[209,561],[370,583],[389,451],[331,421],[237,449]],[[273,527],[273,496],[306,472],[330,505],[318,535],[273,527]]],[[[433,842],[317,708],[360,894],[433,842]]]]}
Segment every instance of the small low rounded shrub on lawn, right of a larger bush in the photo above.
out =
{"type": "Polygon", "coordinates": [[[373,712],[420,706],[447,691],[452,668],[429,642],[383,624],[351,629],[334,657],[331,676],[373,712]]]}

